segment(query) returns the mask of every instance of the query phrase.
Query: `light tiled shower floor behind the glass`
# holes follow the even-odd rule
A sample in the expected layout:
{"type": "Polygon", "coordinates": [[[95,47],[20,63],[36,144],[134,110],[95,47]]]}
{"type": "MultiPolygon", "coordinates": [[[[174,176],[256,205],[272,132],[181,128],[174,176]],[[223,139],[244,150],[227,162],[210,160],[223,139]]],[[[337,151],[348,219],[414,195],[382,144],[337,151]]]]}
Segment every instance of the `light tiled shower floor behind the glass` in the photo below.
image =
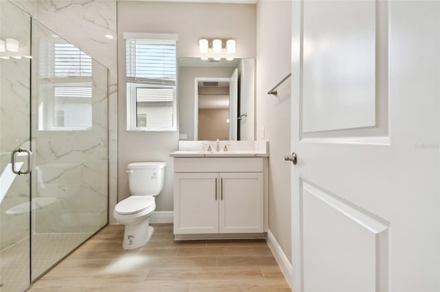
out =
{"type": "MultiPolygon", "coordinates": [[[[93,233],[32,235],[32,279],[40,276],[93,233]]],[[[22,292],[28,288],[29,238],[0,252],[0,291],[22,292]]]]}

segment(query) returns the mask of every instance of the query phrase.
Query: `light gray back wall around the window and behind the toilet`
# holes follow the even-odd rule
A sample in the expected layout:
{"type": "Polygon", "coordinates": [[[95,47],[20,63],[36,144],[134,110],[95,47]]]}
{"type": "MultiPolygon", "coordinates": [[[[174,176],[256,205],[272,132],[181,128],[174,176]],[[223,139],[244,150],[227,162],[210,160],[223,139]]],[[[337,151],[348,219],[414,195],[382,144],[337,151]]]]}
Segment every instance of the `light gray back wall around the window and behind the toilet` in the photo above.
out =
{"type": "MultiPolygon", "coordinates": [[[[177,57],[198,57],[199,38],[234,38],[236,58],[256,56],[256,5],[170,2],[118,2],[118,201],[129,196],[126,165],[165,161],[165,186],[157,211],[173,210],[173,160],[177,132],[127,132],[125,42],[123,32],[177,34],[177,57]]],[[[179,107],[184,106],[179,101],[179,107]]]]}

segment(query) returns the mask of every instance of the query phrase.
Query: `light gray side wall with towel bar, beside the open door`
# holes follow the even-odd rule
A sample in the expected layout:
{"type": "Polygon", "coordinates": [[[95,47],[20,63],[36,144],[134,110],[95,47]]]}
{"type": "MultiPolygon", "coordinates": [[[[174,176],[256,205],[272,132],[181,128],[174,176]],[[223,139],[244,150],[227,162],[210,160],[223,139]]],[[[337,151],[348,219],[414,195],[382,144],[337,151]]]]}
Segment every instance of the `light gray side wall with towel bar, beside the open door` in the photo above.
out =
{"type": "Polygon", "coordinates": [[[269,229],[289,259],[290,164],[283,156],[290,153],[290,80],[278,88],[277,97],[267,91],[291,70],[291,5],[290,1],[259,0],[256,25],[256,138],[270,141],[269,229]]]}

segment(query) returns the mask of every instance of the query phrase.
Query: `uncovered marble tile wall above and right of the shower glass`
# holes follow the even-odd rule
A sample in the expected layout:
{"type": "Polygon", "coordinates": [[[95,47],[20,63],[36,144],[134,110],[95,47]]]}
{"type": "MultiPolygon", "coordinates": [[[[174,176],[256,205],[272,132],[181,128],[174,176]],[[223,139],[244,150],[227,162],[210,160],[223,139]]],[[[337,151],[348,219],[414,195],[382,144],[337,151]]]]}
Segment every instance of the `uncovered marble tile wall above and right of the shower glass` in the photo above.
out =
{"type": "MultiPolygon", "coordinates": [[[[116,0],[11,0],[109,69],[109,210],[117,202],[118,71],[116,0]],[[112,38],[113,37],[113,38],[112,38]]],[[[85,175],[85,173],[83,173],[85,175]]],[[[91,200],[91,199],[90,199],[91,200]]],[[[113,216],[109,217],[114,222],[113,216]]]]}

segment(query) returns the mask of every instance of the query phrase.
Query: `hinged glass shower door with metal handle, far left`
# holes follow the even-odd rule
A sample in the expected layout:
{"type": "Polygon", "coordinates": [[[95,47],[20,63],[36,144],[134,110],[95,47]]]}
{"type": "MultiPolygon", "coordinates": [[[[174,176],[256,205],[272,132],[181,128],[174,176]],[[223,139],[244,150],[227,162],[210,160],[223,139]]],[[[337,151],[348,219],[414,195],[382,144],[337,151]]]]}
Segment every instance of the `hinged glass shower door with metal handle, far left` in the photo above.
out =
{"type": "Polygon", "coordinates": [[[0,291],[30,284],[31,19],[0,1],[0,291]]]}

